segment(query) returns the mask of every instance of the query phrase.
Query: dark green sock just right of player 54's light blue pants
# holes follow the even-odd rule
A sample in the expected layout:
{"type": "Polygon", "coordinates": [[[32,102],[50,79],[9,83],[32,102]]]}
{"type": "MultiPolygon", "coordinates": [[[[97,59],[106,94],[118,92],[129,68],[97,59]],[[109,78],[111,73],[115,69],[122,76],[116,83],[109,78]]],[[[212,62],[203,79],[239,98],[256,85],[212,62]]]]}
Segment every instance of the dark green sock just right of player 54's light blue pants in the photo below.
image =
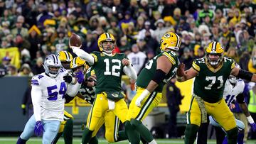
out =
{"type": "Polygon", "coordinates": [[[72,144],[73,143],[73,119],[68,119],[67,123],[65,123],[63,137],[65,144],[72,144]]]}

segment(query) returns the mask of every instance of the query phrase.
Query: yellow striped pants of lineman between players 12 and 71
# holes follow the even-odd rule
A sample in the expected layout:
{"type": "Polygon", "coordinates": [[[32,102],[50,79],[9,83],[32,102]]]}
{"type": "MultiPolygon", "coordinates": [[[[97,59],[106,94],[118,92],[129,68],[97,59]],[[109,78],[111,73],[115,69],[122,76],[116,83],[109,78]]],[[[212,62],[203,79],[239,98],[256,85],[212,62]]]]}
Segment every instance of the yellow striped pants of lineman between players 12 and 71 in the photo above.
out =
{"type": "Polygon", "coordinates": [[[132,118],[137,121],[143,121],[144,118],[159,104],[161,101],[162,94],[159,92],[151,92],[146,98],[142,101],[141,107],[136,106],[136,99],[142,94],[144,91],[143,88],[138,87],[137,93],[132,99],[131,104],[129,105],[129,111],[127,114],[127,120],[130,121],[132,118]]]}

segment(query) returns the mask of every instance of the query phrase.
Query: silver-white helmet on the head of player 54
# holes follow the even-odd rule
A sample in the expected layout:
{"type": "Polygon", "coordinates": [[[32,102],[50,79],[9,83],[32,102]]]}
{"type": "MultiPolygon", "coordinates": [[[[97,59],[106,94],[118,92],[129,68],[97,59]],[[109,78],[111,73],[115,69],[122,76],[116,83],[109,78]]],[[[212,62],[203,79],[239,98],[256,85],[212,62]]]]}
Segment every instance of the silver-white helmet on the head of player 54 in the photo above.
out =
{"type": "Polygon", "coordinates": [[[44,61],[43,67],[45,69],[46,74],[50,77],[57,77],[60,73],[61,62],[60,59],[56,55],[48,55],[46,60],[44,61]],[[50,68],[57,68],[55,70],[50,70],[50,68]]]}

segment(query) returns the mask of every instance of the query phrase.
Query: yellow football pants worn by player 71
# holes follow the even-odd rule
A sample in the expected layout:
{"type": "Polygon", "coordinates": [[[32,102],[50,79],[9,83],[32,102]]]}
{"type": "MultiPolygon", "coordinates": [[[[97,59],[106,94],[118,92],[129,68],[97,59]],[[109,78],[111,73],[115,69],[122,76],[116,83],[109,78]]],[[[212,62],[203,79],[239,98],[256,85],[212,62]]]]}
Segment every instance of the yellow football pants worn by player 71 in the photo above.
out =
{"type": "MultiPolygon", "coordinates": [[[[215,118],[220,126],[224,128],[225,131],[229,131],[236,127],[235,117],[233,113],[228,108],[228,105],[225,103],[224,99],[216,103],[208,103],[203,101],[206,112],[215,118]]],[[[188,124],[196,124],[200,126],[201,124],[201,110],[199,109],[198,102],[195,99],[195,96],[191,99],[191,106],[187,113],[187,123],[188,124]]]]}

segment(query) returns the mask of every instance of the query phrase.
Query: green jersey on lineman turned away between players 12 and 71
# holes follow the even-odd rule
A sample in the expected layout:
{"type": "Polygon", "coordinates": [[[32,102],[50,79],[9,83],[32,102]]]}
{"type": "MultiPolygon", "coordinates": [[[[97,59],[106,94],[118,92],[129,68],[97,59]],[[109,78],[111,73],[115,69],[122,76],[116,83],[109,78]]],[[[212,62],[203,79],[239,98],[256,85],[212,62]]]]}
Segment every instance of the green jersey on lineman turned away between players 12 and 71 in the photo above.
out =
{"type": "Polygon", "coordinates": [[[171,64],[173,65],[171,67],[171,70],[166,75],[166,79],[164,79],[158,87],[156,87],[156,92],[162,92],[164,84],[168,82],[171,77],[174,77],[174,74],[176,74],[176,71],[178,69],[178,65],[180,65],[180,62],[178,60],[178,57],[176,56],[176,53],[173,51],[168,52],[161,52],[159,55],[156,55],[153,59],[149,60],[149,62],[146,64],[146,67],[142,70],[142,72],[139,74],[137,78],[136,85],[138,87],[142,87],[146,89],[151,79],[154,77],[154,74],[156,73],[156,60],[158,57],[161,57],[162,55],[165,55],[170,60],[171,64]]]}

